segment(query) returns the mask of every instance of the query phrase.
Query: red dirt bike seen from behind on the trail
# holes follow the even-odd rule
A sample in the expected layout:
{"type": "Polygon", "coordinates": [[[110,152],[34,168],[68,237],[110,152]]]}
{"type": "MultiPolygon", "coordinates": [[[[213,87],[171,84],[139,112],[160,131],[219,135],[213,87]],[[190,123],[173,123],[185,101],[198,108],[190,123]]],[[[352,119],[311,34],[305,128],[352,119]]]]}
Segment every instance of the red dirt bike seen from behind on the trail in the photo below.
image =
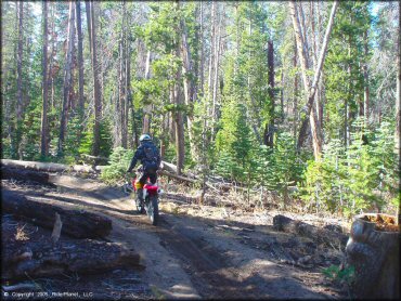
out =
{"type": "Polygon", "coordinates": [[[137,176],[131,179],[130,183],[126,183],[124,185],[124,189],[127,192],[134,192],[135,193],[135,205],[137,210],[139,213],[144,214],[146,213],[150,218],[153,225],[157,225],[159,214],[158,214],[158,196],[163,194],[163,189],[157,186],[157,184],[153,185],[148,182],[143,185],[143,201],[140,202],[137,195],[137,183],[141,176],[142,170],[139,168],[137,170],[137,176]]]}

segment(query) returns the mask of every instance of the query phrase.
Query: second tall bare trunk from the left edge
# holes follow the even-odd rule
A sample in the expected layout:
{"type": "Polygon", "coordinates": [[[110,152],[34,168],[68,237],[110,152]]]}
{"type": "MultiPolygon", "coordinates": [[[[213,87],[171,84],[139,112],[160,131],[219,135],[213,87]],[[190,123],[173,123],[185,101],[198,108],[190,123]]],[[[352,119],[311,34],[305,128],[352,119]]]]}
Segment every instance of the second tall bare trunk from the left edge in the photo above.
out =
{"type": "Polygon", "coordinates": [[[48,2],[42,2],[43,10],[43,58],[42,58],[42,120],[40,126],[40,155],[48,155],[48,2]]]}

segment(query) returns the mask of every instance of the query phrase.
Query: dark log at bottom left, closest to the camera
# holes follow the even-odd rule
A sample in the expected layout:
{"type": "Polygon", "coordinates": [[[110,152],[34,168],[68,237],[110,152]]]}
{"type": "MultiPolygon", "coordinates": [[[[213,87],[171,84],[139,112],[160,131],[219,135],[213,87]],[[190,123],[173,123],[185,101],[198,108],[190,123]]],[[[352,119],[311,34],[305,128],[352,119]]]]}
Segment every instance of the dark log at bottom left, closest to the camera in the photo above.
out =
{"type": "MultiPolygon", "coordinates": [[[[29,224],[28,224],[29,225],[29,224]]],[[[2,226],[2,278],[49,277],[72,273],[96,274],[114,269],[138,267],[140,256],[119,244],[91,239],[62,239],[53,245],[50,237],[16,239],[17,230],[2,226]]],[[[26,226],[31,231],[34,226],[26,226]]],[[[43,232],[43,231],[41,231],[43,232]]],[[[49,235],[50,236],[50,235],[49,235]]]]}

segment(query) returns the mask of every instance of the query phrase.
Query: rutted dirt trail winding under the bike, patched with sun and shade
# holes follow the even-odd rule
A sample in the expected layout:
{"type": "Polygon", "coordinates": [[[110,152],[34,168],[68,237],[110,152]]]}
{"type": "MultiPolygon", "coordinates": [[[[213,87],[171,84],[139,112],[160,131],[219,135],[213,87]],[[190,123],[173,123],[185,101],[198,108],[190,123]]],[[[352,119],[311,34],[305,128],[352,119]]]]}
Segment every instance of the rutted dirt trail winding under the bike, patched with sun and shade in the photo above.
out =
{"type": "Polygon", "coordinates": [[[198,212],[209,211],[203,215],[193,209],[191,214],[169,213],[164,209],[171,200],[161,197],[160,223],[153,226],[120,189],[66,175],[52,181],[57,192],[35,197],[109,217],[113,232],[107,238],[141,254],[146,266],[142,277],[155,298],[341,298],[321,273],[280,263],[280,239],[289,244],[292,237],[274,233],[269,225],[210,214],[220,208],[195,206],[198,212]]]}

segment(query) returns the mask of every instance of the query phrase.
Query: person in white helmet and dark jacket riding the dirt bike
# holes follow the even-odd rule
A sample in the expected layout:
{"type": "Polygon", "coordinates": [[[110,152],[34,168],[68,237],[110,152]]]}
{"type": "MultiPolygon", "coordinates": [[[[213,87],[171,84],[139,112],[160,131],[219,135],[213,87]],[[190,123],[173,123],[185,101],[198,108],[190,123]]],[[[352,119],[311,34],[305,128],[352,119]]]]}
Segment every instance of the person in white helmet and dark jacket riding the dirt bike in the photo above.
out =
{"type": "Polygon", "coordinates": [[[152,138],[148,134],[142,134],[139,139],[141,145],[137,148],[137,152],[131,160],[127,172],[131,172],[135,167],[137,161],[141,160],[142,163],[142,175],[137,183],[137,195],[140,204],[143,201],[143,185],[146,183],[147,178],[152,184],[157,181],[157,170],[160,166],[160,155],[157,147],[152,142],[152,138]]]}

